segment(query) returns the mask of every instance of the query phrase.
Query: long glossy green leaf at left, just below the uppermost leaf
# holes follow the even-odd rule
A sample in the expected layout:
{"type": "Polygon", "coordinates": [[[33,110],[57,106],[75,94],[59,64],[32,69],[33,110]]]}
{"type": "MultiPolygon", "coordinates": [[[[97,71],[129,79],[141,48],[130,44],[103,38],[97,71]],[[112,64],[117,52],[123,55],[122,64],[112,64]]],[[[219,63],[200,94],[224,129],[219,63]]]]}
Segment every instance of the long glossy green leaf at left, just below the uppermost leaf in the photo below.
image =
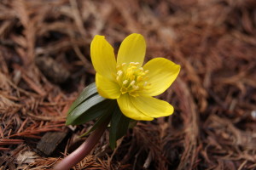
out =
{"type": "Polygon", "coordinates": [[[68,115],[66,120],[66,125],[75,124],[75,120],[82,116],[83,114],[87,114],[86,111],[90,110],[90,108],[94,105],[101,103],[105,98],[102,98],[99,94],[95,94],[94,96],[86,99],[83,103],[73,109],[68,115]]]}

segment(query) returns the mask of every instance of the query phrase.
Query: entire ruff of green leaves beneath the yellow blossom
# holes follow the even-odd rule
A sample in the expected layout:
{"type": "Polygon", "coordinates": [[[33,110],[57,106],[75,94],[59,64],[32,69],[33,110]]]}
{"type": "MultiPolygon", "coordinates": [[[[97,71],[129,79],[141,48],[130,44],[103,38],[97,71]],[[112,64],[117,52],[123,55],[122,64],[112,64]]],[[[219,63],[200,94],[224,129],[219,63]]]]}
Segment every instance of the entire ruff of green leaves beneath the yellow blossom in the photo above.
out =
{"type": "Polygon", "coordinates": [[[115,99],[105,99],[97,93],[95,83],[84,88],[73,102],[67,112],[66,125],[81,125],[92,120],[96,120],[94,126],[82,136],[96,130],[102,122],[109,122],[109,144],[112,149],[115,148],[116,140],[123,137],[128,127],[134,124],[134,120],[122,114],[115,99]]]}

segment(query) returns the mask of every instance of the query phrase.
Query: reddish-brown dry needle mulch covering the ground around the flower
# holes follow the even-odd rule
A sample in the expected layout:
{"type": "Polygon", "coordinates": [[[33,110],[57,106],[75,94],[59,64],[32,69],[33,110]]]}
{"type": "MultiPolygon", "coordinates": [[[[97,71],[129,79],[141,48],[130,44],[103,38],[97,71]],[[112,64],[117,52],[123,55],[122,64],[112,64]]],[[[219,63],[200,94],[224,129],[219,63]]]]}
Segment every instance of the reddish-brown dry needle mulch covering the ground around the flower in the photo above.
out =
{"type": "Polygon", "coordinates": [[[147,60],[182,65],[159,96],[175,113],[138,123],[116,150],[105,133],[74,168],[256,169],[254,0],[0,1],[0,169],[50,169],[81,143],[92,123],[65,117],[94,82],[90,41],[104,35],[117,51],[132,32],[147,60]],[[67,138],[45,156],[37,144],[49,132],[67,138]]]}

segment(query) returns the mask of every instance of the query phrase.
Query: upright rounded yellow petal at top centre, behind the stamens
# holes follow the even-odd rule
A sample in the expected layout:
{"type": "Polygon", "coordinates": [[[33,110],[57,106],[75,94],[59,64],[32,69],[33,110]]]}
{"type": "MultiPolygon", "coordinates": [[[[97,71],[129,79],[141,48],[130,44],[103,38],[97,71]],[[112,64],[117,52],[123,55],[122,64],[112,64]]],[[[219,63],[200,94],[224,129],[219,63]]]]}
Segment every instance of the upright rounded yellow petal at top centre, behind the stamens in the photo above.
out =
{"type": "Polygon", "coordinates": [[[121,43],[117,58],[117,64],[122,63],[129,64],[130,62],[138,62],[138,66],[143,65],[143,61],[146,53],[146,42],[144,37],[140,34],[131,34],[125,37],[121,43]]]}

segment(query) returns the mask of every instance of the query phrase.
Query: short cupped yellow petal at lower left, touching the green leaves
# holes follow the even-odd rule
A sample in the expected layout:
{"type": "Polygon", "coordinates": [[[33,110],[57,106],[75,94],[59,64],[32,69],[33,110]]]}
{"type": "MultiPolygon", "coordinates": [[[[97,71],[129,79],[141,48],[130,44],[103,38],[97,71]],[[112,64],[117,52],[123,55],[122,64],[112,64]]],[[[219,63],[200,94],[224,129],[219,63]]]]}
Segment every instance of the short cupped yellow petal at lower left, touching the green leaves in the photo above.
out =
{"type": "Polygon", "coordinates": [[[121,94],[119,84],[117,82],[112,82],[98,73],[96,73],[96,88],[98,93],[103,98],[107,99],[117,99],[121,94]]]}

